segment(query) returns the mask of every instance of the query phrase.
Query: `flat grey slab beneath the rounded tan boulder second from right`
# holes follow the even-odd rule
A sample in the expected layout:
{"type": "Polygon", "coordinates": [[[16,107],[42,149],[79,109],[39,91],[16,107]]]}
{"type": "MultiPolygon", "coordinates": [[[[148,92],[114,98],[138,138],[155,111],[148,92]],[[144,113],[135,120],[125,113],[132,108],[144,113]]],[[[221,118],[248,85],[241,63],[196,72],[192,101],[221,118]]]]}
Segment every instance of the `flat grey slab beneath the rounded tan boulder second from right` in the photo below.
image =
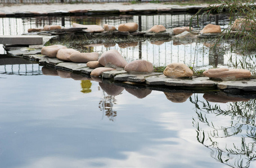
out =
{"type": "Polygon", "coordinates": [[[184,78],[168,78],[164,74],[160,76],[151,76],[146,78],[147,85],[166,85],[166,86],[187,86],[187,87],[214,87],[217,81],[211,81],[208,77],[184,78]]]}

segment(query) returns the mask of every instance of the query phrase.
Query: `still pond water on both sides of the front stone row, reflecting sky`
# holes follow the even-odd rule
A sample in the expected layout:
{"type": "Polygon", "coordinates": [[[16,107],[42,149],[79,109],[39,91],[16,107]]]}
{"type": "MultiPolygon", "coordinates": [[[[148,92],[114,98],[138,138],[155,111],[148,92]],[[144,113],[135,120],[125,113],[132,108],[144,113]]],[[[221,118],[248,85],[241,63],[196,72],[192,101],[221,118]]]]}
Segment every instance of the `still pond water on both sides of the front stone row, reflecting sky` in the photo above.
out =
{"type": "MultiPolygon", "coordinates": [[[[161,22],[156,18],[163,16],[172,15],[142,17],[161,22]]],[[[28,18],[4,19],[21,19],[28,24],[24,21],[28,18]]],[[[10,30],[5,34],[11,34],[10,30]]],[[[212,67],[213,63],[254,68],[251,55],[224,52],[212,57],[204,43],[154,42],[104,46],[104,41],[71,41],[70,45],[99,53],[115,48],[129,62],[147,59],[155,66],[185,62],[196,68],[212,67]]],[[[124,84],[1,55],[1,167],[256,166],[253,93],[173,88],[163,92],[124,84]]]]}

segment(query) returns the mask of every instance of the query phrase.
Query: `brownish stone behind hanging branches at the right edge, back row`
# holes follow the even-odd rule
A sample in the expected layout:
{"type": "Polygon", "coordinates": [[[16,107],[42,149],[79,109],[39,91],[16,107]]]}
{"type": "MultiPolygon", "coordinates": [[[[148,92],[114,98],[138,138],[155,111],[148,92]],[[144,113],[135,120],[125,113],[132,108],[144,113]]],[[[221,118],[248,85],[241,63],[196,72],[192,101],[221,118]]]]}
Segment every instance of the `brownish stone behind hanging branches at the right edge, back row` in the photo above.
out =
{"type": "Polygon", "coordinates": [[[249,31],[251,28],[255,29],[255,22],[253,20],[246,20],[245,18],[237,18],[231,27],[231,30],[249,31]]]}

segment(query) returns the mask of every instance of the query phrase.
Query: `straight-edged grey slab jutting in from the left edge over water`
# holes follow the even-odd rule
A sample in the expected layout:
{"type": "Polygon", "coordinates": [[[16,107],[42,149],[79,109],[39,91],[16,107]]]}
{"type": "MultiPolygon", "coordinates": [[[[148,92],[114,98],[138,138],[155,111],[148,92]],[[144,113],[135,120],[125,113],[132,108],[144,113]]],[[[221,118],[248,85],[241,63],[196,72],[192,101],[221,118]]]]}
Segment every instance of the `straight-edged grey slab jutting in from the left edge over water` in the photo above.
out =
{"type": "Polygon", "coordinates": [[[0,36],[0,44],[43,44],[43,38],[39,35],[15,35],[15,36],[0,36]]]}

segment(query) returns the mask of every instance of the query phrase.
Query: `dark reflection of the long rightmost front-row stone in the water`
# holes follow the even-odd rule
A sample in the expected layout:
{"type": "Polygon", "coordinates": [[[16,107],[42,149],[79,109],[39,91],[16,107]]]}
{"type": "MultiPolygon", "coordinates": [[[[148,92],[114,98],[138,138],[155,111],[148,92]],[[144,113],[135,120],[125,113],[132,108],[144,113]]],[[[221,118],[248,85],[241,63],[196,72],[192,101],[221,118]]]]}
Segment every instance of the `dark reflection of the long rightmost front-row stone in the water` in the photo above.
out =
{"type": "Polygon", "coordinates": [[[249,101],[250,99],[245,99],[241,97],[230,97],[226,95],[210,95],[210,94],[204,94],[204,99],[210,102],[237,102],[237,101],[249,101]]]}

